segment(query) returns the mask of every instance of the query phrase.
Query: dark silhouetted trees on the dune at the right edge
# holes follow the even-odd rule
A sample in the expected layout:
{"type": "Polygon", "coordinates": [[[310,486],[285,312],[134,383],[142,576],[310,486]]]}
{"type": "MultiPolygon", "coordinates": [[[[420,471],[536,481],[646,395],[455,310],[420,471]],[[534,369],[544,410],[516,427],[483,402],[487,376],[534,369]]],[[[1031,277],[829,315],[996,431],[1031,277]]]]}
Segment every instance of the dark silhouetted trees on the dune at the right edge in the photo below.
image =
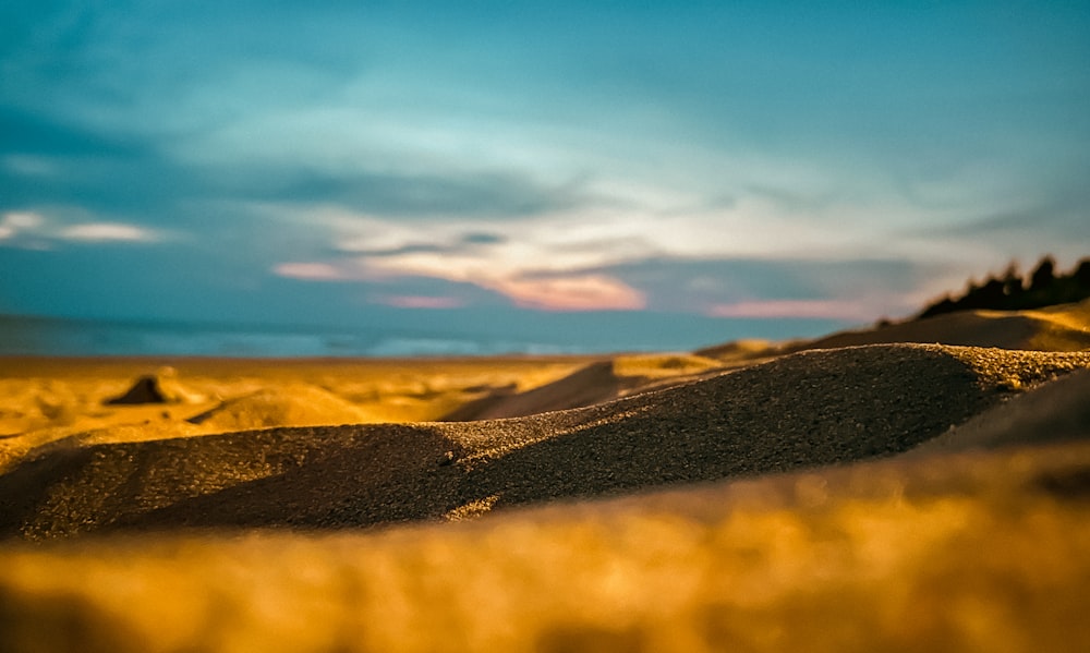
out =
{"type": "Polygon", "coordinates": [[[955,311],[1024,311],[1090,298],[1090,257],[1082,258],[1068,274],[1056,273],[1056,261],[1046,255],[1027,277],[1012,263],[1002,276],[988,277],[983,283],[969,281],[959,298],[946,295],[928,305],[917,317],[932,317],[955,311]]]}

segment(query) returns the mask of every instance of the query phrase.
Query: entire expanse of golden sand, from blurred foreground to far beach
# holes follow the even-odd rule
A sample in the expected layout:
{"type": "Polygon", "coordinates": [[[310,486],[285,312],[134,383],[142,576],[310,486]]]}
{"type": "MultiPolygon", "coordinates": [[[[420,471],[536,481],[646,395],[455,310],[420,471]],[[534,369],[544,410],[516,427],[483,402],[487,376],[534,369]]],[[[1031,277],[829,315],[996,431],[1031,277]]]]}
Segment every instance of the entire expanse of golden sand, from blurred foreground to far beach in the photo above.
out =
{"type": "Polygon", "coordinates": [[[694,353],[0,360],[0,651],[1082,651],[1087,605],[1087,302],[694,353]]]}

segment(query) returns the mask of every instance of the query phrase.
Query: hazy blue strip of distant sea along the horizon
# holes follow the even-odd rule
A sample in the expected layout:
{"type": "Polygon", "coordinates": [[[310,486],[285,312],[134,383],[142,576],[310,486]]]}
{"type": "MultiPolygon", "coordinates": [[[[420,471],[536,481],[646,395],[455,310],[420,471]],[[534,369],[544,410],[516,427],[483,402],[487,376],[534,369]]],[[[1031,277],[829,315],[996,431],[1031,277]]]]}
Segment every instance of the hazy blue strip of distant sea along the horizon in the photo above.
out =
{"type": "Polygon", "coordinates": [[[831,321],[730,321],[674,315],[542,315],[534,325],[482,318],[397,327],[315,327],[0,315],[0,355],[410,358],[689,351],[738,338],[813,337],[831,321]],[[549,321],[553,322],[549,322],[549,321]],[[505,328],[505,325],[510,328],[505,328]],[[501,335],[497,335],[501,334],[501,335]]]}

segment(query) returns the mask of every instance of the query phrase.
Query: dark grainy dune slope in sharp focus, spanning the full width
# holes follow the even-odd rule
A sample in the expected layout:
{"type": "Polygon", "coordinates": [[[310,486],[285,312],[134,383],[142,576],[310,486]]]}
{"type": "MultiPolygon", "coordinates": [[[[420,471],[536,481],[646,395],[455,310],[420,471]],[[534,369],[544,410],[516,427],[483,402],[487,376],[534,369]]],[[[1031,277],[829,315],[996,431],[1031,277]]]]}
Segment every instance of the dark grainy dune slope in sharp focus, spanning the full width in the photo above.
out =
{"type": "Polygon", "coordinates": [[[361,527],[855,461],[1088,366],[1090,353],[872,346],[529,418],[59,444],[0,476],[0,534],[361,527]]]}

